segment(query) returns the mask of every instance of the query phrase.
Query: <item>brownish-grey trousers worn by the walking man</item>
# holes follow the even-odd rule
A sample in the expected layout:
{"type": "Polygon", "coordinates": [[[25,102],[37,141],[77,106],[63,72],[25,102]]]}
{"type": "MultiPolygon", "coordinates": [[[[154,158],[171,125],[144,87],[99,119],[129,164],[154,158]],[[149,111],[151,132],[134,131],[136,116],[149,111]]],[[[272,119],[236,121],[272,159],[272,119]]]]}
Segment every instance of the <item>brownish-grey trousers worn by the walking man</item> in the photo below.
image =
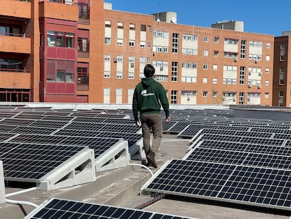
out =
{"type": "Polygon", "coordinates": [[[162,139],[162,115],[159,113],[146,113],[141,115],[141,128],[143,131],[143,149],[148,154],[150,149],[157,155],[162,139]],[[150,130],[153,130],[153,145],[150,146],[150,130]]]}

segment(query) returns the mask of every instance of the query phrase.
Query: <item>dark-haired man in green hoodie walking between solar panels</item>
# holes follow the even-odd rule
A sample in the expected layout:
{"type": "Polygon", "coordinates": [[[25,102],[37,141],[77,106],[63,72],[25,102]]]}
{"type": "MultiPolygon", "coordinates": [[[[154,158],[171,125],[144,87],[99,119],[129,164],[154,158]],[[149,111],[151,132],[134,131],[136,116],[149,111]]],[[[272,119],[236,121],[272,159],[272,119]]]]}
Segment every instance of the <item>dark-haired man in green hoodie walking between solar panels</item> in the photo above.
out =
{"type": "Polygon", "coordinates": [[[153,79],[155,68],[153,65],[145,65],[143,69],[145,78],[136,85],[132,101],[134,123],[138,125],[138,112],[140,113],[141,129],[143,132],[143,149],[148,160],[148,165],[157,168],[155,156],[162,139],[162,115],[161,106],[166,114],[167,123],[169,117],[169,101],[164,87],[153,79]],[[150,130],[153,130],[153,145],[150,146],[150,130]]]}

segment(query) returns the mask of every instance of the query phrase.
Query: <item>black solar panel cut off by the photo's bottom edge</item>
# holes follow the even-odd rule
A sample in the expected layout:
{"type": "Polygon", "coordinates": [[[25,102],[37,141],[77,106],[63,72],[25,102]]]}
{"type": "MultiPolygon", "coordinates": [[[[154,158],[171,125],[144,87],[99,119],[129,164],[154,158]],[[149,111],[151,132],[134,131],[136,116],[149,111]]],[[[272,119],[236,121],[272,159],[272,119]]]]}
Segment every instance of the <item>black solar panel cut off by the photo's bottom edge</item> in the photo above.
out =
{"type": "Polygon", "coordinates": [[[133,208],[120,208],[103,204],[91,204],[65,199],[51,199],[25,219],[55,218],[103,218],[103,219],[187,219],[178,215],[167,215],[133,208]]]}

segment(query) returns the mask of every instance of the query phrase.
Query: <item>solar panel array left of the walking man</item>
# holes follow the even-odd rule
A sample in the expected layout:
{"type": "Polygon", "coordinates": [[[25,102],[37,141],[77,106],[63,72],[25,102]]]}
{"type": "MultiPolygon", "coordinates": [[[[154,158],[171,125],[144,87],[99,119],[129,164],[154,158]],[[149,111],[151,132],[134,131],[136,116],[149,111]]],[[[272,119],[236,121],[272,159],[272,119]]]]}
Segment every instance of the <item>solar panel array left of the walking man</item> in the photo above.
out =
{"type": "Polygon", "coordinates": [[[141,152],[140,130],[122,111],[3,107],[0,157],[4,177],[39,182],[41,177],[58,170],[62,163],[86,149],[94,151],[96,170],[116,168],[128,163],[127,151],[141,152]]]}

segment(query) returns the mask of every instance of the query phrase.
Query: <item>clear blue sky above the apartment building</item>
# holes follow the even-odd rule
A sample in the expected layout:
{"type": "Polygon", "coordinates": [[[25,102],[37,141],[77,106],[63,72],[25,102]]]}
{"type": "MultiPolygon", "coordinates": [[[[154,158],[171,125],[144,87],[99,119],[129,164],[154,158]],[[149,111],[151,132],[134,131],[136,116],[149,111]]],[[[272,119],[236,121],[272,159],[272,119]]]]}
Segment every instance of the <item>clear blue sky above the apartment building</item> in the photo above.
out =
{"type": "Polygon", "coordinates": [[[282,36],[291,30],[290,0],[104,0],[112,9],[153,14],[177,13],[177,23],[210,27],[217,21],[243,21],[245,32],[282,36]]]}

